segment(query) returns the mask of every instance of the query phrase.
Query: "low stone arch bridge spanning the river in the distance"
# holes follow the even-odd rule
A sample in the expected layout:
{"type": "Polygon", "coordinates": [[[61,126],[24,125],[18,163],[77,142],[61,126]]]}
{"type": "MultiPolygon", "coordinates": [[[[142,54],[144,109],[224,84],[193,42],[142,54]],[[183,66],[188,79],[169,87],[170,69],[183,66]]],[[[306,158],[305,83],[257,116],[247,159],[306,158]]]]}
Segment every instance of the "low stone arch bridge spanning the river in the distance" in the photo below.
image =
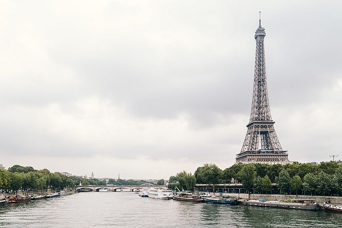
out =
{"type": "Polygon", "coordinates": [[[150,183],[142,184],[139,186],[125,186],[125,185],[110,185],[110,186],[95,186],[95,185],[87,185],[87,186],[76,186],[76,191],[99,191],[100,189],[108,189],[112,191],[139,191],[141,188],[166,188],[167,186],[156,186],[150,183]]]}

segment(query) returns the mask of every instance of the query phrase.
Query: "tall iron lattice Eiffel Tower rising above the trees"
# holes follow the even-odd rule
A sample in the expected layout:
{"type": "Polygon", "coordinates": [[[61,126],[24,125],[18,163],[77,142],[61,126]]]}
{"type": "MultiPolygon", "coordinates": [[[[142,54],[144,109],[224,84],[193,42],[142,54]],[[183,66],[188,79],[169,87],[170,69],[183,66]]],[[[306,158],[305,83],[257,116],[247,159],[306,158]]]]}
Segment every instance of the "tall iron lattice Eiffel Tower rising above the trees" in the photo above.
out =
{"type": "Polygon", "coordinates": [[[256,39],[256,62],[251,117],[247,124],[247,133],[241,152],[235,158],[236,163],[289,163],[287,151],[283,150],[279,143],[268,102],[265,36],[265,28],[261,27],[261,16],[259,15],[259,27],[254,36],[256,39]]]}

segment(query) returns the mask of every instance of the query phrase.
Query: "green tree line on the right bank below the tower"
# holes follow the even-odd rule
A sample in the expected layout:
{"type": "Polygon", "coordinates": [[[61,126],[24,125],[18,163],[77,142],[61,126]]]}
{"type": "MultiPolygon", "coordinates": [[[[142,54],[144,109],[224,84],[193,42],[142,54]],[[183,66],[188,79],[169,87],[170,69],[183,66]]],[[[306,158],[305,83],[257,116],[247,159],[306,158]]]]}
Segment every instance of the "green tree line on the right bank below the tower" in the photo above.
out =
{"type": "Polygon", "coordinates": [[[311,195],[342,194],[342,165],[337,162],[294,162],[287,165],[234,164],[224,170],[215,164],[204,164],[194,174],[182,171],[169,180],[170,188],[193,190],[194,184],[241,183],[248,193],[268,193],[272,183],[278,184],[280,193],[306,191],[311,195]]]}

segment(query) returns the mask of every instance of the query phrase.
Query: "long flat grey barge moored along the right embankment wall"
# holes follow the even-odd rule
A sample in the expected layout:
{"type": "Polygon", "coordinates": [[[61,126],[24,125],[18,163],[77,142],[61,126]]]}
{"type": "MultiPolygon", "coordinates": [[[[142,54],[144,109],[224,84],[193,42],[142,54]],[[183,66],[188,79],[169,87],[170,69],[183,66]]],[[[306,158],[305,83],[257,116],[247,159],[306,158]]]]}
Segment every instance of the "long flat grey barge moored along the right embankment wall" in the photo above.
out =
{"type": "Polygon", "coordinates": [[[245,200],[243,205],[257,206],[257,207],[277,207],[284,209],[299,209],[299,210],[319,210],[320,205],[315,203],[315,200],[292,200],[293,203],[284,203],[276,200],[267,201],[265,199],[260,200],[245,200]]]}

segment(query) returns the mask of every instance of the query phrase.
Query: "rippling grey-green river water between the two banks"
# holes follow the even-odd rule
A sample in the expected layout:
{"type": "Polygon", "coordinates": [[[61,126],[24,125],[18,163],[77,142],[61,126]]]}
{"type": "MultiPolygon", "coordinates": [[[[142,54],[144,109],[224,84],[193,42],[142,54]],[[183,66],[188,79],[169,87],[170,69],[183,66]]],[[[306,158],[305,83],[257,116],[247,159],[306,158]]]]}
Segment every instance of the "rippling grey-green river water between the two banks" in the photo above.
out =
{"type": "Polygon", "coordinates": [[[82,192],[0,206],[0,227],[342,227],[342,214],[82,192]]]}

